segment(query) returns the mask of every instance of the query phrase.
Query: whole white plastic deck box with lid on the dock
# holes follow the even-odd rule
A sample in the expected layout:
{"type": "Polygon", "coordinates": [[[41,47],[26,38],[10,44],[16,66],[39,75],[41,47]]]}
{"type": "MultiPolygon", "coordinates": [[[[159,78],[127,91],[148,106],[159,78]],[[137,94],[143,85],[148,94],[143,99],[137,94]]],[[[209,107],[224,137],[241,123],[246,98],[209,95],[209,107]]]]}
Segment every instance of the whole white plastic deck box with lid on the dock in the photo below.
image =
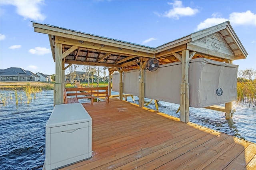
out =
{"type": "Polygon", "coordinates": [[[46,124],[45,169],[92,156],[92,118],[81,103],[55,105],[46,124]]]}

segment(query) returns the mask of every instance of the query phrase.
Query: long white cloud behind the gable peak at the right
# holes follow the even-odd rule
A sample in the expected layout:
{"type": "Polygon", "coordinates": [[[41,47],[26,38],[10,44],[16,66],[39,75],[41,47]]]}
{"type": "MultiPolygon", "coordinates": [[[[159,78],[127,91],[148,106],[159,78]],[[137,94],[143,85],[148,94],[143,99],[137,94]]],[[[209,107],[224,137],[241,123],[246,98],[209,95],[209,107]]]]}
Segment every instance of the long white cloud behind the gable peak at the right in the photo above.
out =
{"type": "Polygon", "coordinates": [[[198,24],[196,30],[201,30],[208,28],[217,24],[220,24],[225,21],[230,21],[232,25],[252,25],[256,26],[256,14],[246,11],[246,12],[232,12],[229,15],[229,18],[216,18],[216,14],[220,16],[219,13],[212,14],[213,18],[207,18],[200,24],[198,24]]]}

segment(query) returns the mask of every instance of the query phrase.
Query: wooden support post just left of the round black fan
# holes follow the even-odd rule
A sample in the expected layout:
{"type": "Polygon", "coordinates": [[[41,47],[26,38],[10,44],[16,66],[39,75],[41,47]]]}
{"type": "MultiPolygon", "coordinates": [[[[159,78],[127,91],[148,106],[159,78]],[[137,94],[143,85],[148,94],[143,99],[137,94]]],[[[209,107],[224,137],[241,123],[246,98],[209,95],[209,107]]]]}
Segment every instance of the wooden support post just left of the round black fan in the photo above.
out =
{"type": "Polygon", "coordinates": [[[139,86],[139,107],[144,107],[144,69],[146,67],[146,62],[142,61],[140,63],[140,86],[139,86]]]}

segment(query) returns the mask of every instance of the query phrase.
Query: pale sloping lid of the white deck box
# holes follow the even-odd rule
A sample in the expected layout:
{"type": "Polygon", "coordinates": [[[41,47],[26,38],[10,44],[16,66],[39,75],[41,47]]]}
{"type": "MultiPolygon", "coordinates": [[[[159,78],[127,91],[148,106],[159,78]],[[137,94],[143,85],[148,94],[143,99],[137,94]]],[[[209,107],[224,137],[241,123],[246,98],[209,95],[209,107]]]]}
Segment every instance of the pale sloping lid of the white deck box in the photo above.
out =
{"type": "Polygon", "coordinates": [[[92,121],[81,103],[55,105],[46,128],[92,121]]]}

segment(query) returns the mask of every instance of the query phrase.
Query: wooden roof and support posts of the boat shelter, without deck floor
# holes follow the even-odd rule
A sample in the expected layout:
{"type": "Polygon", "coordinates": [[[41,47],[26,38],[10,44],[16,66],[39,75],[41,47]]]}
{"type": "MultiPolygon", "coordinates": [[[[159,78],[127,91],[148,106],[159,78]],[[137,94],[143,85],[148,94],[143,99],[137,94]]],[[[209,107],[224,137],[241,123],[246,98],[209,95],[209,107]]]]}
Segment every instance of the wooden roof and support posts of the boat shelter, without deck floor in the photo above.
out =
{"type": "MultiPolygon", "coordinates": [[[[177,82],[180,86],[180,89],[178,89],[180,91],[180,96],[178,96],[180,121],[186,123],[189,121],[190,106],[190,83],[188,81],[190,61],[197,58],[206,58],[232,64],[233,60],[245,59],[248,55],[228,21],[155,48],[48,24],[33,22],[33,27],[35,32],[47,34],[49,37],[52,57],[56,63],[54,105],[64,103],[65,70],[72,64],[78,64],[108,67],[109,75],[118,71],[120,73],[120,100],[123,99],[123,73],[130,70],[139,70],[141,73],[140,79],[138,84],[134,84],[134,87],[138,87],[139,106],[143,107],[145,96],[144,71],[147,61],[153,58],[160,65],[180,62],[181,68],[175,70],[175,72],[180,74],[181,81],[177,82]]],[[[109,82],[111,82],[110,76],[109,82]]],[[[111,87],[111,85],[109,84],[108,87],[111,87]]],[[[166,84],[164,89],[172,89],[172,87],[166,84]]],[[[236,86],[231,90],[232,93],[236,94],[235,89],[236,86]]],[[[173,91],[177,90],[173,89],[173,91]]],[[[111,95],[111,88],[109,88],[108,95],[111,95]]],[[[210,100],[211,97],[206,98],[210,100]]],[[[207,108],[223,111],[226,113],[226,119],[230,119],[235,112],[232,109],[233,100],[223,100],[225,107],[222,108],[214,106],[207,106],[207,108]]]]}

